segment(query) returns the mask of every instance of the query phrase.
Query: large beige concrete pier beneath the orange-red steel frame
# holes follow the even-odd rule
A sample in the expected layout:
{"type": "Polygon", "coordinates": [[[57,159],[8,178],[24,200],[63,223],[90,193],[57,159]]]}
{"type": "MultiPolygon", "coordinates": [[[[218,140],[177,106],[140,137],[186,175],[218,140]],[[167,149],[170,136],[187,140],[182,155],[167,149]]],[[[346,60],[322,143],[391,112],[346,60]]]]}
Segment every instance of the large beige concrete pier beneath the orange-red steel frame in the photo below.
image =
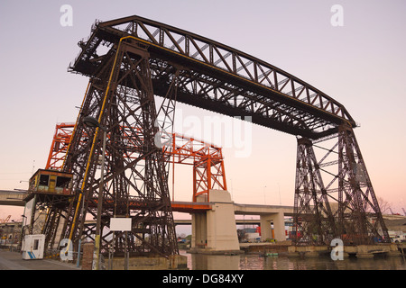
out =
{"type": "Polygon", "coordinates": [[[230,193],[210,190],[211,210],[192,213],[190,253],[240,253],[230,193]]]}

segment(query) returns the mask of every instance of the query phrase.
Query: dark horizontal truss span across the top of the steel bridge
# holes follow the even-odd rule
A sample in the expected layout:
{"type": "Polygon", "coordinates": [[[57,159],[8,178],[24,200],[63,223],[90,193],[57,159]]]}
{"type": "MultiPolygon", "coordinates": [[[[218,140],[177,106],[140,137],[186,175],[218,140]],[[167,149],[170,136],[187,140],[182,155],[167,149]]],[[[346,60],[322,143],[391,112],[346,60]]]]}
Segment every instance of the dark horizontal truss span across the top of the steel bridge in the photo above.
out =
{"type": "Polygon", "coordinates": [[[139,16],[95,23],[70,71],[97,77],[123,38],[150,52],[154,94],[179,73],[178,101],[293,135],[319,139],[355,121],[327,94],[291,74],[214,40],[139,16]],[[246,120],[246,119],[245,119],[246,120]]]}

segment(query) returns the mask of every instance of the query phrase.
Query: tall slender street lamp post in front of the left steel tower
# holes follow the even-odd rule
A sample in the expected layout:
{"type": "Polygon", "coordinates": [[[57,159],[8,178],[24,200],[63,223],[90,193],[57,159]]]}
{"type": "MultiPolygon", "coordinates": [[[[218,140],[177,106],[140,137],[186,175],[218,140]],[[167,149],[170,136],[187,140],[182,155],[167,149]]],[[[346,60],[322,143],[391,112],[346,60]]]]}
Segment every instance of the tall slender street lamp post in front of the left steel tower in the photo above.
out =
{"type": "Polygon", "coordinates": [[[100,182],[98,186],[98,199],[97,199],[97,221],[96,221],[96,232],[95,232],[95,249],[94,254],[96,259],[94,260],[95,265],[93,266],[94,270],[99,270],[100,268],[100,235],[101,235],[101,211],[103,203],[103,190],[104,190],[104,177],[105,177],[105,157],[106,157],[106,127],[100,125],[100,123],[91,116],[85,117],[83,123],[88,127],[97,127],[98,129],[103,130],[103,154],[102,154],[102,163],[100,171],[100,182]]]}

